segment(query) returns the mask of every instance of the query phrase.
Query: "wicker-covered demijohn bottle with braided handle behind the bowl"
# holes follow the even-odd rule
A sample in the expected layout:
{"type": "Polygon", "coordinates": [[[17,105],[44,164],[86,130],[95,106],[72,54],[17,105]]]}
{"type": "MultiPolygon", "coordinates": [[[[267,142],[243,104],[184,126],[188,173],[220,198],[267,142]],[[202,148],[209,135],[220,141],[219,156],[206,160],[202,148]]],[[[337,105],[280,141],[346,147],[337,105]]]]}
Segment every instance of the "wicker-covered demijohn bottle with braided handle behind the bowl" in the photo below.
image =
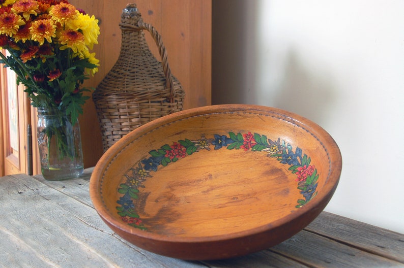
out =
{"type": "Polygon", "coordinates": [[[135,4],[123,10],[120,27],[119,58],[93,93],[104,151],[140,125],[181,111],[185,95],[171,75],[161,36],[143,22],[135,4]],[[151,33],[161,62],[150,51],[143,30],[151,33]]]}

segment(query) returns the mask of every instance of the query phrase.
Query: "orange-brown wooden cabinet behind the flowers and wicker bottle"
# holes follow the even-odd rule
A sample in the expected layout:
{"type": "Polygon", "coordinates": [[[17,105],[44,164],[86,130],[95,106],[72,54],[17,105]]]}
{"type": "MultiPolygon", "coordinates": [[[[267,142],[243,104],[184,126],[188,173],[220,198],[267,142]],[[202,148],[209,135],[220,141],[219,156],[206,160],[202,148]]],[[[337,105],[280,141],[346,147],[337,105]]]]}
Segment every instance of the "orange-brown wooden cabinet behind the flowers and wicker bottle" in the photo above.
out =
{"type": "MultiPolygon", "coordinates": [[[[153,25],[162,36],[172,74],[178,78],[186,92],[184,109],[211,105],[211,0],[139,0],[133,2],[127,0],[70,0],[70,3],[85,10],[90,15],[94,14],[100,23],[99,44],[94,47],[96,57],[100,60],[99,72],[85,81],[84,86],[97,87],[117,61],[121,48],[119,23],[121,22],[122,10],[127,4],[136,3],[143,20],[153,25]]],[[[160,60],[157,46],[147,32],[146,38],[152,52],[160,60]]],[[[3,79],[2,76],[2,92],[3,79]]],[[[2,103],[4,103],[4,99],[2,103]]],[[[3,110],[6,111],[4,107],[3,110]]],[[[26,109],[25,107],[24,111],[20,112],[23,114],[19,118],[19,120],[23,120],[20,124],[24,126],[23,128],[26,128],[25,126],[28,123],[33,125],[33,137],[36,137],[37,118],[35,110],[32,108],[26,109]]],[[[0,125],[3,127],[3,133],[0,135],[4,135],[5,132],[4,118],[2,121],[0,121],[0,125]]],[[[84,114],[79,117],[79,122],[84,166],[87,168],[95,165],[103,153],[101,130],[92,99],[85,104],[84,114]]],[[[21,131],[25,130],[21,129],[21,131]]],[[[23,135],[26,135],[26,131],[23,132],[23,135]]],[[[5,140],[3,139],[3,141],[5,140]]],[[[32,145],[34,154],[33,171],[34,174],[37,174],[40,173],[40,169],[36,139],[33,139],[32,145]]],[[[6,148],[4,145],[3,147],[2,153],[0,153],[0,163],[4,172],[5,155],[2,154],[4,154],[6,148]]],[[[26,148],[23,147],[23,150],[26,150],[26,148]]],[[[26,171],[22,172],[26,173],[26,171]]],[[[1,171],[0,175],[3,175],[1,171]]]]}

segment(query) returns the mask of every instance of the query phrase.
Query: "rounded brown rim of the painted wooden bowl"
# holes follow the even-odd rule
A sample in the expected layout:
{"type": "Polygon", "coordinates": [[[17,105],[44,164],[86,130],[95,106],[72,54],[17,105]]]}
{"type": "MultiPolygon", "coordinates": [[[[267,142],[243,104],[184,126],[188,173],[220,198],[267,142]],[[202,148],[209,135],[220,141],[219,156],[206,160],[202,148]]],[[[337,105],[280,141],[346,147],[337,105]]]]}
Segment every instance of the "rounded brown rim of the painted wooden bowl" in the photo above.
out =
{"type": "MultiPolygon", "coordinates": [[[[309,131],[308,131],[309,132],[309,131]]],[[[161,242],[170,242],[170,243],[204,243],[204,242],[217,242],[217,241],[227,241],[227,240],[233,240],[233,239],[239,239],[243,238],[246,236],[254,236],[254,235],[259,235],[259,233],[266,232],[270,229],[275,229],[280,226],[282,226],[285,223],[288,222],[293,222],[296,221],[300,218],[302,218],[304,215],[307,213],[311,212],[315,214],[315,217],[318,216],[323,209],[326,207],[328,204],[329,200],[331,199],[334,191],[336,190],[336,187],[339,182],[340,174],[341,174],[341,169],[342,169],[342,156],[340,153],[340,150],[338,148],[338,145],[334,141],[334,139],[331,137],[331,135],[323,129],[321,126],[318,124],[314,123],[313,121],[310,121],[309,119],[300,116],[298,114],[288,112],[282,109],[278,108],[272,108],[272,107],[266,107],[266,106],[258,106],[258,105],[244,105],[244,104],[229,104],[229,105],[212,105],[212,106],[204,106],[204,107],[198,107],[198,108],[192,108],[180,112],[176,112],[173,114],[169,114],[166,116],[163,116],[161,118],[157,118],[149,123],[146,123],[144,125],[141,125],[140,127],[132,130],[130,133],[128,133],[126,136],[124,136],[121,140],[119,140],[117,143],[112,145],[99,159],[97,162],[93,173],[91,175],[90,179],[90,197],[93,202],[93,205],[97,211],[97,213],[100,215],[100,217],[108,224],[113,226],[114,228],[119,229],[122,232],[130,233],[131,235],[135,235],[139,238],[144,238],[147,240],[154,240],[154,241],[161,241],[161,242]],[[280,120],[284,120],[289,123],[296,124],[302,128],[304,128],[306,131],[310,129],[311,135],[318,140],[324,147],[324,149],[327,151],[327,154],[330,159],[330,168],[329,168],[329,173],[326,178],[327,182],[324,183],[324,186],[322,188],[322,191],[320,191],[315,198],[310,200],[307,204],[305,204],[303,207],[297,209],[293,213],[287,214],[284,217],[281,217],[275,221],[269,222],[267,224],[264,224],[262,226],[257,226],[253,227],[251,229],[247,230],[242,230],[242,231],[237,231],[237,232],[230,232],[230,233],[225,233],[221,235],[214,235],[214,236],[205,236],[205,237],[192,237],[192,236],[185,236],[185,237],[179,237],[179,236],[165,236],[165,235],[160,235],[155,232],[147,232],[141,229],[137,229],[134,227],[131,227],[124,222],[121,222],[116,219],[116,217],[113,217],[111,215],[111,212],[109,212],[105,206],[103,206],[103,197],[101,196],[101,182],[100,178],[102,178],[102,174],[104,171],[108,168],[108,164],[110,161],[115,157],[115,155],[121,151],[124,150],[125,147],[129,146],[129,144],[140,138],[143,135],[143,132],[149,132],[152,129],[155,129],[161,125],[165,125],[167,123],[177,121],[179,119],[184,119],[187,117],[192,117],[192,116],[200,116],[200,115],[205,115],[205,114],[212,114],[212,113],[234,113],[234,112],[251,112],[251,113],[265,113],[265,114],[271,114],[273,117],[276,117],[280,120]],[[321,141],[320,141],[321,138],[321,141]],[[330,148],[326,148],[324,144],[327,144],[330,148]],[[329,152],[332,150],[332,154],[329,152]],[[331,163],[333,168],[331,169],[331,163]]],[[[310,223],[312,220],[314,220],[315,217],[312,217],[312,219],[309,222],[305,222],[304,228],[308,223],[310,223]]],[[[301,229],[302,229],[301,228],[301,229]]]]}

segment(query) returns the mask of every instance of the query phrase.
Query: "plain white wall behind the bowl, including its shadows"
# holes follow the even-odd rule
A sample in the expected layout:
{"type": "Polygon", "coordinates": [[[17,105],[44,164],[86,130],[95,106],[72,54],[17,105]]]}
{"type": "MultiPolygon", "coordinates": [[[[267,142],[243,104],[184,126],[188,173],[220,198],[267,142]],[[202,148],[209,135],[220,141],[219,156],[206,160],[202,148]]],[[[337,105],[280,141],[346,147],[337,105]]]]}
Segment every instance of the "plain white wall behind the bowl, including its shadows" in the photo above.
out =
{"type": "Polygon", "coordinates": [[[213,104],[278,107],[326,129],[343,159],[326,211],[401,233],[403,11],[402,0],[213,1],[212,75],[213,104]]]}

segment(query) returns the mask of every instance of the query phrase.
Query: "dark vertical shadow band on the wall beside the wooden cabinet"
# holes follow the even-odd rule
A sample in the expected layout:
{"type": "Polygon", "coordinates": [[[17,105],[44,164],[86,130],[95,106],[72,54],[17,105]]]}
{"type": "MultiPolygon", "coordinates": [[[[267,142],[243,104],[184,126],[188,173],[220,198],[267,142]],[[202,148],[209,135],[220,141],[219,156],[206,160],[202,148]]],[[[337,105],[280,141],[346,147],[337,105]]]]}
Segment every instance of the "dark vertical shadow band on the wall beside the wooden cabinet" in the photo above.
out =
{"type": "Polygon", "coordinates": [[[212,2],[212,104],[254,99],[257,1],[212,2]]]}

